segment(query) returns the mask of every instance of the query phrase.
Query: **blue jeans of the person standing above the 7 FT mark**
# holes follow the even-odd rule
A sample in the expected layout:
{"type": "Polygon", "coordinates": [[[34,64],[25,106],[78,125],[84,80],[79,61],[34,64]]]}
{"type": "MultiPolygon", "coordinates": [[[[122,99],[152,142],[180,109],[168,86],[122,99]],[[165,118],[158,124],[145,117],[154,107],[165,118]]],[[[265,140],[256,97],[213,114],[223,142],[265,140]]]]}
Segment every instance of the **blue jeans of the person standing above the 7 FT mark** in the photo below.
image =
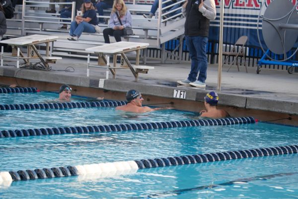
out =
{"type": "Polygon", "coordinates": [[[208,37],[185,36],[185,40],[189,49],[189,57],[191,59],[191,70],[188,75],[188,80],[191,82],[196,81],[200,71],[198,81],[205,83],[205,80],[207,79],[208,67],[206,53],[208,37]]]}

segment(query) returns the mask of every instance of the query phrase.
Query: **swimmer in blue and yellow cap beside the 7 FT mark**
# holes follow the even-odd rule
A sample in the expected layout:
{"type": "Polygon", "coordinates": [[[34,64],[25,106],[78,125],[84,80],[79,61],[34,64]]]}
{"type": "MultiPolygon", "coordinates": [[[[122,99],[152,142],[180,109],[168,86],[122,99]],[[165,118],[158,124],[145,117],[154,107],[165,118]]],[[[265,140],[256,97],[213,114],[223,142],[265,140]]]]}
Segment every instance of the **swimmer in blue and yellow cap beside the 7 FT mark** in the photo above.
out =
{"type": "Polygon", "coordinates": [[[219,102],[219,96],[216,92],[212,91],[205,96],[205,108],[206,110],[200,111],[201,117],[208,117],[208,118],[223,118],[229,117],[230,115],[222,109],[217,109],[217,104],[219,102]]]}

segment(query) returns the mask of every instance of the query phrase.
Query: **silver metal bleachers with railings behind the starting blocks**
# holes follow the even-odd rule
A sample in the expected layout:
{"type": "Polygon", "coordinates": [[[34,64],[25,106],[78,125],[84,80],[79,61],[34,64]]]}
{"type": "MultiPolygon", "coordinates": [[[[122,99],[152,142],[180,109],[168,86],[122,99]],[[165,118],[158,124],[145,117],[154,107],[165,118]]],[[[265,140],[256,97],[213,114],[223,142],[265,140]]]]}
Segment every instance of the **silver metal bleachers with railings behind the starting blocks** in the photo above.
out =
{"type": "MultiPolygon", "coordinates": [[[[184,1],[178,0],[177,3],[184,1]]],[[[164,43],[175,38],[183,39],[181,35],[184,33],[185,19],[182,17],[182,13],[163,19],[162,16],[167,14],[167,12],[162,12],[161,8],[159,8],[158,17],[148,20],[143,14],[149,14],[152,0],[126,0],[125,2],[132,13],[134,35],[125,36],[122,38],[122,41],[149,43],[149,48],[156,48],[162,51],[161,62],[164,62],[165,54],[171,54],[171,52],[165,51],[164,43]]],[[[7,19],[6,36],[18,37],[31,34],[59,36],[52,49],[52,54],[59,56],[84,57],[86,56],[86,53],[84,54],[85,48],[104,44],[102,33],[83,33],[79,41],[67,40],[69,31],[59,30],[58,28],[62,24],[70,25],[72,19],[69,18],[67,22],[62,22],[58,12],[46,13],[45,10],[48,9],[49,4],[49,1],[24,0],[23,5],[17,5],[15,7],[14,18],[7,19]]],[[[59,10],[59,3],[54,4],[56,10],[59,10]]],[[[73,7],[75,7],[74,2],[65,2],[62,4],[73,4],[73,7]]],[[[111,9],[105,10],[105,16],[102,17],[108,20],[110,12],[111,9]]],[[[99,26],[103,30],[107,27],[107,24],[99,24],[99,26]]],[[[110,40],[111,42],[115,42],[113,37],[110,37],[110,40]]],[[[174,54],[171,55],[178,57],[174,54]]]]}

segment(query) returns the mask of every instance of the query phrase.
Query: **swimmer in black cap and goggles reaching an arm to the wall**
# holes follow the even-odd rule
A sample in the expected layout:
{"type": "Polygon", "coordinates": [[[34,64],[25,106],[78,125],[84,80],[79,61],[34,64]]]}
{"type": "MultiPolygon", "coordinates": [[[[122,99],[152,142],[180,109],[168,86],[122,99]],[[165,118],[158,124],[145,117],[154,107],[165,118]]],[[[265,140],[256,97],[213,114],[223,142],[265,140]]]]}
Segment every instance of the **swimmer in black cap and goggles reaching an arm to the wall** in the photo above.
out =
{"type": "Polygon", "coordinates": [[[139,91],[129,90],[126,93],[127,104],[122,106],[117,106],[116,110],[123,110],[128,112],[135,113],[143,113],[143,112],[151,112],[154,110],[162,110],[162,109],[172,109],[172,107],[157,107],[150,108],[149,106],[142,106],[143,97],[139,91]]]}

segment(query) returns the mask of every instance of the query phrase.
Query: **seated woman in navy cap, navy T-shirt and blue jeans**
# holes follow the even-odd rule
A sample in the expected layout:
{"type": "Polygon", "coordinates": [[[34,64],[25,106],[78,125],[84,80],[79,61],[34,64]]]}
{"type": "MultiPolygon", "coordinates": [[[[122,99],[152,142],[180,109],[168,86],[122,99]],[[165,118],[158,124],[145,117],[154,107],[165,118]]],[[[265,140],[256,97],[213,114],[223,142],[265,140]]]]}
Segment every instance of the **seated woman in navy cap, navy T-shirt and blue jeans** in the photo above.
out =
{"type": "Polygon", "coordinates": [[[81,11],[83,15],[75,16],[75,20],[71,24],[70,37],[67,38],[68,40],[78,41],[82,32],[96,32],[97,16],[91,0],[84,0],[81,11]]]}

